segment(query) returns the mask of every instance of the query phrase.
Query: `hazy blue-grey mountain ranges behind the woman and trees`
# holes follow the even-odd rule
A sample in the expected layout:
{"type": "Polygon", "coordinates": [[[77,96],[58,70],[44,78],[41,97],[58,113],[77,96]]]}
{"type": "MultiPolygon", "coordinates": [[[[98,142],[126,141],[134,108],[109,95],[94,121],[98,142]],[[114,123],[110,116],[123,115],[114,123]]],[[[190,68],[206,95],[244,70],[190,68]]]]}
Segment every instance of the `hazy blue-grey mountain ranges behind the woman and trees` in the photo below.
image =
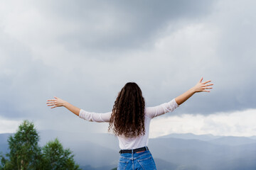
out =
{"type": "MultiPolygon", "coordinates": [[[[7,151],[7,138],[0,134],[0,152],[7,151]]],[[[119,159],[117,137],[110,134],[82,132],[39,132],[40,145],[58,137],[75,154],[82,169],[113,169],[119,159]]],[[[149,140],[149,149],[159,170],[256,169],[255,137],[171,134],[149,140]]]]}

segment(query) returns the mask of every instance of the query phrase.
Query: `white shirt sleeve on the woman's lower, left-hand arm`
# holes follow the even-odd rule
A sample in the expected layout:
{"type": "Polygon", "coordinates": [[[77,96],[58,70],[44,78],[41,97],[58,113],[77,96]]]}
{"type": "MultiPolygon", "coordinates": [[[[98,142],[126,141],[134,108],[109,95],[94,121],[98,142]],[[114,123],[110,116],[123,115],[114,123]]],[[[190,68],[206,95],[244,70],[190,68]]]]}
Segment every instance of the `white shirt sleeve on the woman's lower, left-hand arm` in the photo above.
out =
{"type": "Polygon", "coordinates": [[[112,112],[108,113],[92,113],[80,109],[79,118],[97,123],[109,123],[112,112]]]}

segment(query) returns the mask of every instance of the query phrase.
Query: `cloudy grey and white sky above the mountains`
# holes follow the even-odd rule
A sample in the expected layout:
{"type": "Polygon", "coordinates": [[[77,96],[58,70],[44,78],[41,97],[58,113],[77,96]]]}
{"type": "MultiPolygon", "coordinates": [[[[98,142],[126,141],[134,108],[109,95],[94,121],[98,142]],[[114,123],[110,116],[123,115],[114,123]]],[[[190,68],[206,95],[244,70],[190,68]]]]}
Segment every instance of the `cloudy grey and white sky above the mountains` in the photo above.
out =
{"type": "Polygon", "coordinates": [[[151,137],[256,135],[255,5],[0,1],[0,133],[15,132],[25,119],[38,130],[107,132],[107,124],[50,109],[46,100],[58,96],[105,113],[122,86],[135,81],[146,106],[156,106],[204,77],[213,81],[213,90],[153,120],[151,137]]]}

